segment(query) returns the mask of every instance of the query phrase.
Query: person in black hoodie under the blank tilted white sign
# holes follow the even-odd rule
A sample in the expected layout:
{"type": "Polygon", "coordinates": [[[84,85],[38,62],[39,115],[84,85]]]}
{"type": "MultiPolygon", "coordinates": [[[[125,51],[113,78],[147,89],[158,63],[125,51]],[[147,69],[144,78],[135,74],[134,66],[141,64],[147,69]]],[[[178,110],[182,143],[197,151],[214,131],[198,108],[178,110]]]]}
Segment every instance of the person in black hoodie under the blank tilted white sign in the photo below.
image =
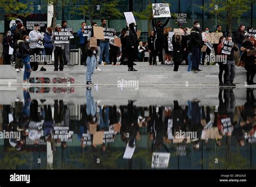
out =
{"type": "Polygon", "coordinates": [[[136,47],[138,46],[138,37],[136,34],[136,24],[129,24],[129,31],[127,31],[126,38],[126,49],[128,56],[128,71],[137,71],[133,68],[134,54],[136,53],[136,47]]]}

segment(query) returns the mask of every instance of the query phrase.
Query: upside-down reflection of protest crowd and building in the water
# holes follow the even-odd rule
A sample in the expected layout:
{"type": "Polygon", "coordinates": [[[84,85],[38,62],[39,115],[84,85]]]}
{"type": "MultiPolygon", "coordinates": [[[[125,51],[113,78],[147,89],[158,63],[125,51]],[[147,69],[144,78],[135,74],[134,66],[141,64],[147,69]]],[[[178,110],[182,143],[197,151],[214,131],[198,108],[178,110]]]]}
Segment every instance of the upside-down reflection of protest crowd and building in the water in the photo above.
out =
{"type": "Polygon", "coordinates": [[[185,106],[179,101],[169,106],[136,106],[136,101],[104,105],[90,90],[86,105],[62,100],[49,104],[45,98],[43,102],[27,100],[30,106],[24,109],[26,100],[17,101],[1,107],[0,129],[22,130],[22,143],[0,140],[0,163],[11,154],[8,148],[14,148],[28,159],[18,163],[18,169],[151,169],[153,153],[170,153],[168,169],[255,168],[256,106],[253,90],[246,93],[246,102],[240,106],[235,105],[230,89],[220,90],[218,106],[202,106],[199,100],[187,101],[185,106]],[[28,121],[24,114],[29,114],[28,121]],[[62,135],[72,131],[70,141],[54,138],[53,127],[63,128],[62,135]],[[101,142],[95,144],[95,133],[103,130],[101,142]],[[180,131],[195,132],[197,137],[176,138],[180,131]],[[126,145],[135,147],[128,160],[123,159],[126,145]],[[97,158],[102,164],[97,164],[97,158]],[[213,158],[221,164],[212,165],[213,158]]]}

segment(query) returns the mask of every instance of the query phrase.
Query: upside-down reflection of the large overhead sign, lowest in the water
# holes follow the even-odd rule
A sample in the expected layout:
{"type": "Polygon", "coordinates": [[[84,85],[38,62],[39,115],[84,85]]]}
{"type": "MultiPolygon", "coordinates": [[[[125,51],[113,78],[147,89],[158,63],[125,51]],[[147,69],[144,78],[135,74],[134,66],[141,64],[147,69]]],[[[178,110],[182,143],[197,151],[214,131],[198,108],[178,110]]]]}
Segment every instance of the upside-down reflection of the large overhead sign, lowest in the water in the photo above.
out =
{"type": "Polygon", "coordinates": [[[153,153],[151,168],[168,168],[170,153],[153,153]]]}

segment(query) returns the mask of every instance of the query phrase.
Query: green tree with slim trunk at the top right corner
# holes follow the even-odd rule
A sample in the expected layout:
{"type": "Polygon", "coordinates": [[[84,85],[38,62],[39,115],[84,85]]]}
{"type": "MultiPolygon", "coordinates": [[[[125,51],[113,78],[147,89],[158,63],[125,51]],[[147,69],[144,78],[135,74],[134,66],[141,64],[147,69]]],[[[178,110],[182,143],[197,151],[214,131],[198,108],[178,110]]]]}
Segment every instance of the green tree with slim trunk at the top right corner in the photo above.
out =
{"type": "Polygon", "coordinates": [[[232,36],[232,19],[240,18],[242,13],[251,9],[251,3],[255,0],[210,0],[200,8],[218,18],[226,20],[228,34],[232,36]]]}

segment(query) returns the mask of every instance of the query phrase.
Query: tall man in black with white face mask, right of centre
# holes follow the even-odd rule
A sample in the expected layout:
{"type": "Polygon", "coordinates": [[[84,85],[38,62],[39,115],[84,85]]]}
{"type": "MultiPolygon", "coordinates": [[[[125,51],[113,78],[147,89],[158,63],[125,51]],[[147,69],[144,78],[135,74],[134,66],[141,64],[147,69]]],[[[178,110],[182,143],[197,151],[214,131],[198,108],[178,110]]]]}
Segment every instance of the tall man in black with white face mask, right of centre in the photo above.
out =
{"type": "Polygon", "coordinates": [[[200,23],[194,22],[194,27],[190,33],[192,50],[192,71],[200,72],[199,63],[201,61],[201,48],[203,47],[203,38],[200,30],[200,23]]]}

